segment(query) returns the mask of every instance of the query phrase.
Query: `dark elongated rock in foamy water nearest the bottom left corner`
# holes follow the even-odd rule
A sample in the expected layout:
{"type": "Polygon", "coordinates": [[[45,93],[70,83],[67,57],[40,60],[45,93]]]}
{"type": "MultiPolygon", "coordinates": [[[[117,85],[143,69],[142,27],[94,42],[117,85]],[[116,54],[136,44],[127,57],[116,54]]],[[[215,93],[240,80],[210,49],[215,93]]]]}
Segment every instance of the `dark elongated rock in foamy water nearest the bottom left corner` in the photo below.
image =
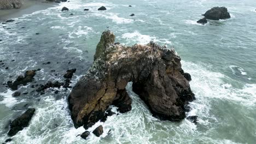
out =
{"type": "Polygon", "coordinates": [[[14,119],[10,123],[10,130],[8,132],[8,136],[14,136],[20,130],[28,126],[32,116],[34,115],[35,109],[28,109],[25,113],[23,113],[20,117],[14,119]]]}

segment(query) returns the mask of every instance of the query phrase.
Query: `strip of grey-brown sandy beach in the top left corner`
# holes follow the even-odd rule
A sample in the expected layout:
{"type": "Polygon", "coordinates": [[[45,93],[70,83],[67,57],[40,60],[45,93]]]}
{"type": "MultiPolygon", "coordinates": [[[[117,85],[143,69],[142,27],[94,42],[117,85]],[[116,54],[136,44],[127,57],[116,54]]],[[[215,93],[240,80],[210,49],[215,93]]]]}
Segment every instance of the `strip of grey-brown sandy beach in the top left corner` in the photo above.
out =
{"type": "Polygon", "coordinates": [[[32,14],[34,11],[44,10],[56,6],[58,3],[45,0],[25,0],[20,9],[0,10],[0,22],[21,17],[25,14],[32,14]]]}

